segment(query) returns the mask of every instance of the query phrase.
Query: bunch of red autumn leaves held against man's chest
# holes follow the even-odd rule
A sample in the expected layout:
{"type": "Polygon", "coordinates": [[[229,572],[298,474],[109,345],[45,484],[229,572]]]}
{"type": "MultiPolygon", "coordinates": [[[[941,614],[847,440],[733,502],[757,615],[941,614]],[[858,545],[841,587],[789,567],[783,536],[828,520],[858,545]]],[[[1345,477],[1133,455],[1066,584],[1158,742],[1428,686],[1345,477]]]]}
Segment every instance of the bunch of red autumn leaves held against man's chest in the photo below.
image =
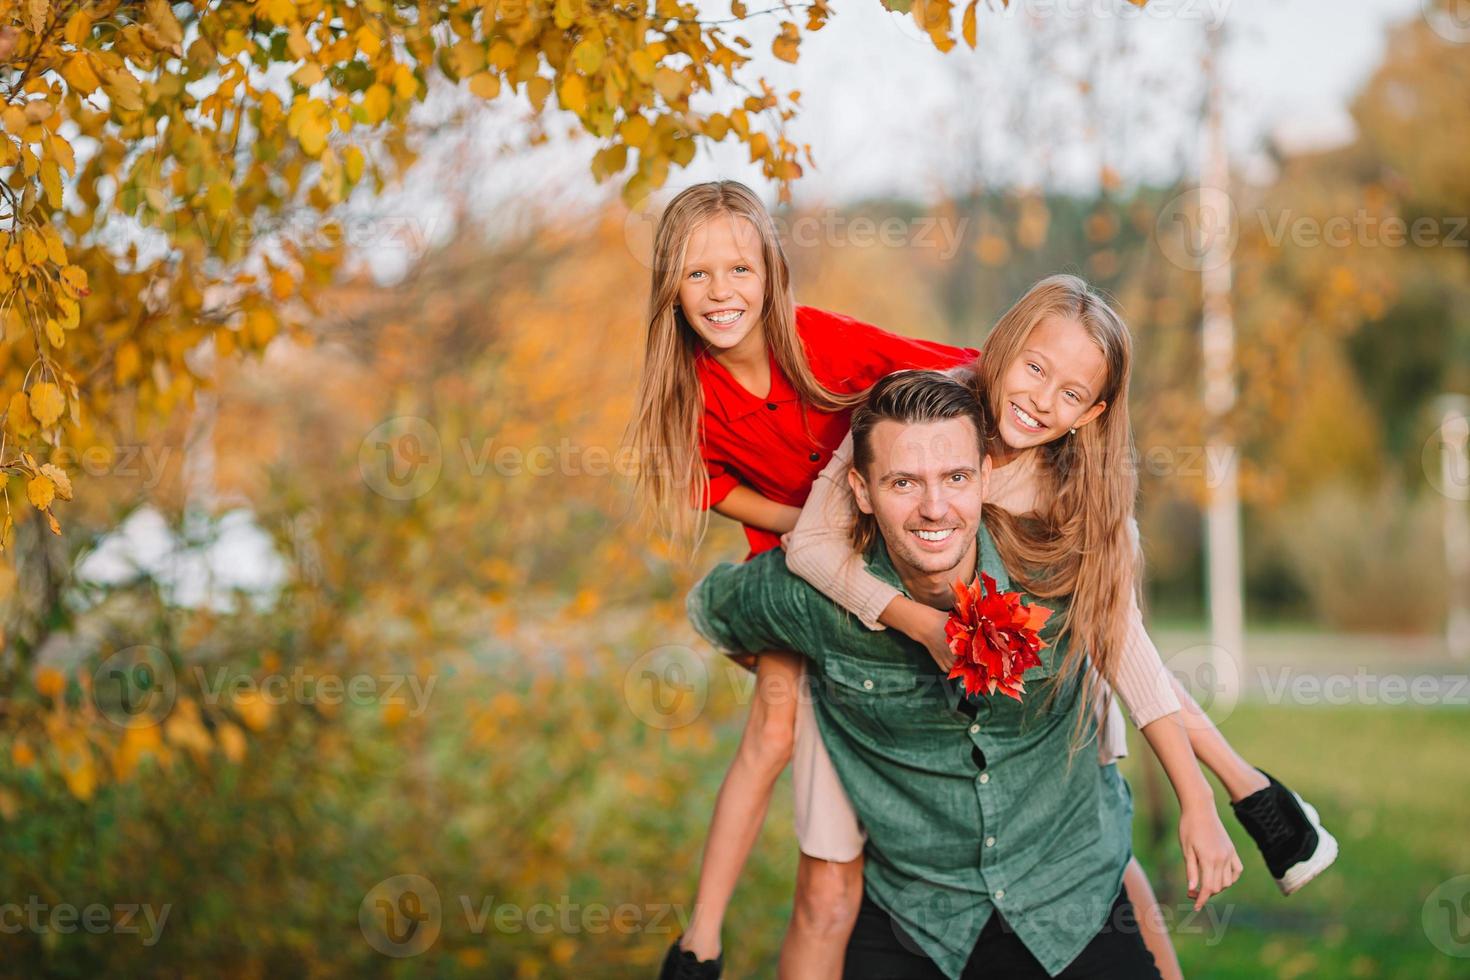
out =
{"type": "Polygon", "coordinates": [[[1047,648],[1038,630],[1051,617],[1044,605],[1022,605],[1020,592],[1001,592],[995,579],[980,572],[979,580],[954,583],[954,610],[945,623],[954,666],[966,693],[995,693],[1020,701],[1026,691],[1020,676],[1041,666],[1036,652],[1047,648]]]}

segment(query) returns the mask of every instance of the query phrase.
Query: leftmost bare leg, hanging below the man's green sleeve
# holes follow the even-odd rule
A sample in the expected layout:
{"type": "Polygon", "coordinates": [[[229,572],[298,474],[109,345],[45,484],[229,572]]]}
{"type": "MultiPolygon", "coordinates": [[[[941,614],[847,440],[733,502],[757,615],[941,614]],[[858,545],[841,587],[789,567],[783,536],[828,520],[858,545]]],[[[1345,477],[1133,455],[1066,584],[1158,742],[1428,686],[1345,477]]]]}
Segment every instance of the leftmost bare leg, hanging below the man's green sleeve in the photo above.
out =
{"type": "Polygon", "coordinates": [[[720,952],[725,909],[766,821],[776,779],[791,760],[801,667],[801,655],[785,651],[764,652],[757,661],[756,696],[735,760],[714,798],[694,914],[679,940],[700,959],[714,959],[720,952]]]}

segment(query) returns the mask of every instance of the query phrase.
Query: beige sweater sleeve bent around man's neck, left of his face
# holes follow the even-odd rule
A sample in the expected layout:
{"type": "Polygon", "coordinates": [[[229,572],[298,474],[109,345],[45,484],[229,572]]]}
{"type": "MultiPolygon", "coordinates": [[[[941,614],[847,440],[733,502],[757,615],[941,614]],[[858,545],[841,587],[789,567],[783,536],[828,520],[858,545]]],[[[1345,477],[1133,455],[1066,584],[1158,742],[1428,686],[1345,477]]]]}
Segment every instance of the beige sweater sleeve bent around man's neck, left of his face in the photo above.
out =
{"type": "Polygon", "coordinates": [[[850,432],[817,473],[797,526],[785,538],[786,569],[856,613],[867,629],[886,629],[878,617],[900,592],[869,572],[863,555],[853,551],[850,535],[856,510],[847,482],[851,463],[850,432]]]}

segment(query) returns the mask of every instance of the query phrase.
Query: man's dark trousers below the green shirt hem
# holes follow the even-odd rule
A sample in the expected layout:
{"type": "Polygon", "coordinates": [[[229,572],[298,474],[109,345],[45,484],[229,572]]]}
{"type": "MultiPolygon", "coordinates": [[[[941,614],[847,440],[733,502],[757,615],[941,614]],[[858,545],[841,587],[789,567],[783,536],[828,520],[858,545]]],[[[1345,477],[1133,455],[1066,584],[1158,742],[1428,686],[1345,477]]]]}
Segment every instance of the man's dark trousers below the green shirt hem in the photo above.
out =
{"type": "MultiPolygon", "coordinates": [[[[847,942],[847,965],[842,980],[944,980],[933,961],[914,952],[919,945],[898,936],[900,927],[867,895],[857,912],[857,924],[847,942]]],[[[1078,958],[1057,974],[1058,980],[1158,980],[1154,955],[1144,946],[1133,904],[1119,890],[1113,909],[1097,936],[1078,958]]],[[[964,964],[963,980],[991,977],[1036,977],[1047,980],[1047,971],[1030,955],[1026,945],[1010,930],[998,911],[980,930],[970,961],[964,964]]]]}

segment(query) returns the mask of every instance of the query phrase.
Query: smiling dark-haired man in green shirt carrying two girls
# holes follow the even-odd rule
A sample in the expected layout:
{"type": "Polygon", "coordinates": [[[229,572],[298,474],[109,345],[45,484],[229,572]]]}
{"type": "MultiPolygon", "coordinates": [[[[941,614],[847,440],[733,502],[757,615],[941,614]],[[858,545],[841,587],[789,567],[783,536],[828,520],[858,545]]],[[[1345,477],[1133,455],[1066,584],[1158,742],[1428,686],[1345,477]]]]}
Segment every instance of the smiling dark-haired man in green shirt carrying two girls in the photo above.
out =
{"type": "MultiPolygon", "coordinates": [[[[858,544],[936,608],[978,569],[1008,588],[980,523],[982,429],[970,389],[938,372],[891,375],[853,414],[858,544]]],[[[779,551],[716,567],[688,610],[725,649],[813,661],[817,726],[867,830],[845,977],[1158,977],[1122,892],[1132,795],[1085,751],[1097,721],[1080,676],[1058,674],[1061,616],[1016,702],[963,696],[920,645],[866,629],[779,551]]]]}

